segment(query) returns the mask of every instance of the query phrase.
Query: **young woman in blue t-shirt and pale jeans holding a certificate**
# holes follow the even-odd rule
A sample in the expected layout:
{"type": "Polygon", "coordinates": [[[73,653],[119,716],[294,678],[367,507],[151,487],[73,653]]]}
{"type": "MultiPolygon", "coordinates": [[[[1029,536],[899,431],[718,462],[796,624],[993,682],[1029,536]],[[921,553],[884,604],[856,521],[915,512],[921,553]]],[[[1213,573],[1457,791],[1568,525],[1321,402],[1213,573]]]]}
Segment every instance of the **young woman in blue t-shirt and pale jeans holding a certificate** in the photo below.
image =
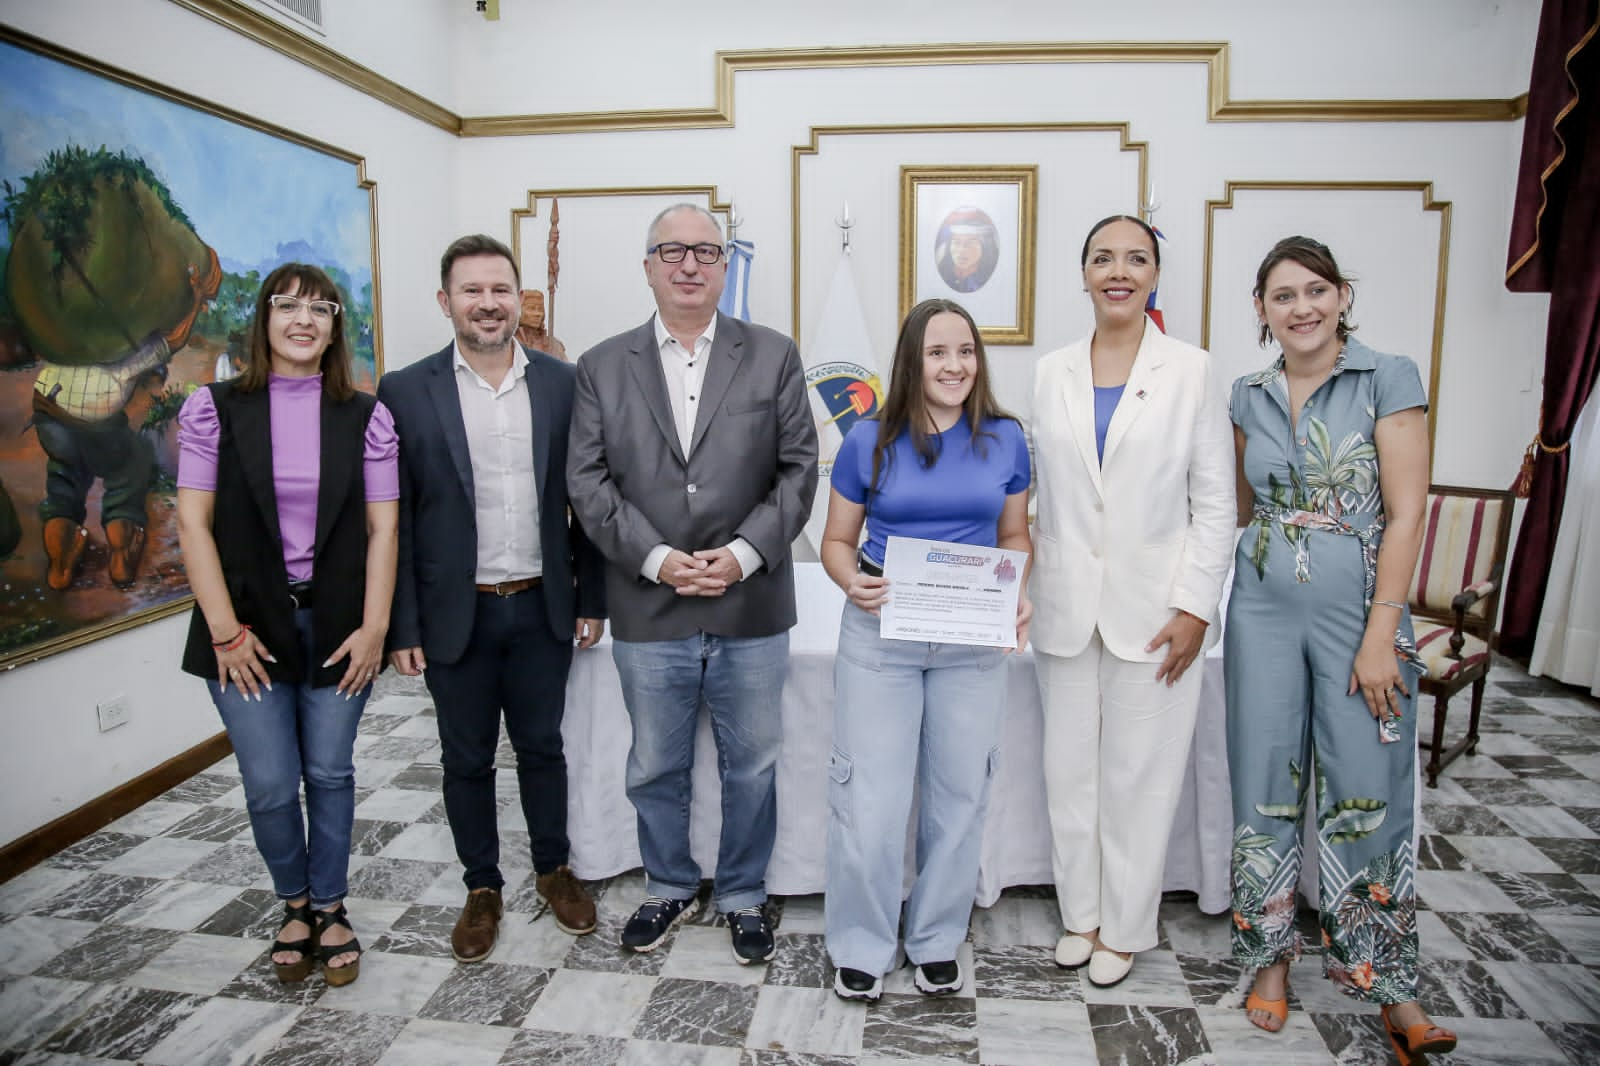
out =
{"type": "MultiPolygon", "coordinates": [[[[906,956],[920,991],[955,992],[1000,746],[1003,651],[885,640],[878,608],[891,595],[883,578],[890,536],[1030,551],[1027,442],[995,403],[982,341],[960,304],[928,299],[906,315],[883,411],[850,429],[832,479],[822,567],[848,597],[829,763],[834,991],[874,1000],[894,964],[906,826],[920,787],[906,956]]],[[[1024,592],[1018,650],[1030,615],[1024,592]]]]}

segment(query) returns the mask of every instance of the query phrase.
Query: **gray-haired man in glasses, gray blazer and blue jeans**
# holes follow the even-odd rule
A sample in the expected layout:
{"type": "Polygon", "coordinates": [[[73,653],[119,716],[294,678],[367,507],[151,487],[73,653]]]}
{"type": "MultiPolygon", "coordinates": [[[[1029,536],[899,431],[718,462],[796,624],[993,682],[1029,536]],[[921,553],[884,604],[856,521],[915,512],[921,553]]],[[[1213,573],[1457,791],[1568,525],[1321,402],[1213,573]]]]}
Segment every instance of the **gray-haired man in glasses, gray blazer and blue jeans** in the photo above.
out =
{"type": "Polygon", "coordinates": [[[573,509],[606,557],[634,723],[627,797],[646,900],[622,946],[653,951],[699,909],[690,771],[704,701],[722,770],[712,898],[734,959],[765,962],[776,951],[765,879],[795,624],[789,544],[816,493],[816,426],[794,341],[717,314],[717,219],[674,205],[645,245],[656,314],[578,360],[566,466],[573,509]]]}

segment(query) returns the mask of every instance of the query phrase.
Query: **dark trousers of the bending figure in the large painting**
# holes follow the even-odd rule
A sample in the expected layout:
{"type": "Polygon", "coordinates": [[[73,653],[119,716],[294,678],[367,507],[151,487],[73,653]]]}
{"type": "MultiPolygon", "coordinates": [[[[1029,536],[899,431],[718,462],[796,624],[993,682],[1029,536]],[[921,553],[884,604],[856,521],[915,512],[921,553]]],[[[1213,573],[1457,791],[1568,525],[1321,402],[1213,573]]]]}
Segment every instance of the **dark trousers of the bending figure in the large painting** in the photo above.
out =
{"type": "Polygon", "coordinates": [[[101,523],[128,519],[146,523],[144,496],[150,491],[155,458],[150,445],[133,432],[122,411],[93,427],[69,426],[42,411],[34,413],[34,429],[45,450],[45,499],[38,504],[42,522],[72,519],[83,523],[85,499],[94,479],[106,482],[101,523]]]}

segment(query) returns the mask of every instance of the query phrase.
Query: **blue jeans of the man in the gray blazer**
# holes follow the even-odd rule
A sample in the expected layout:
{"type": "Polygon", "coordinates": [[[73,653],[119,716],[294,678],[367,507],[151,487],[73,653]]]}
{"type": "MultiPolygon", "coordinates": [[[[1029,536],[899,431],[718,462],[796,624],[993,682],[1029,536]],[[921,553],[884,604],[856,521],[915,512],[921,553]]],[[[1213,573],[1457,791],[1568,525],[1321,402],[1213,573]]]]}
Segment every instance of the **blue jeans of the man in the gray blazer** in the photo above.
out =
{"type": "Polygon", "coordinates": [[[634,722],[627,799],[638,813],[645,890],[669,900],[688,900],[699,892],[701,869],[690,855],[690,771],[704,701],[722,778],[714,900],[720,911],[762,904],[766,863],[778,836],[774,786],[789,634],[614,640],[611,655],[634,722]]]}

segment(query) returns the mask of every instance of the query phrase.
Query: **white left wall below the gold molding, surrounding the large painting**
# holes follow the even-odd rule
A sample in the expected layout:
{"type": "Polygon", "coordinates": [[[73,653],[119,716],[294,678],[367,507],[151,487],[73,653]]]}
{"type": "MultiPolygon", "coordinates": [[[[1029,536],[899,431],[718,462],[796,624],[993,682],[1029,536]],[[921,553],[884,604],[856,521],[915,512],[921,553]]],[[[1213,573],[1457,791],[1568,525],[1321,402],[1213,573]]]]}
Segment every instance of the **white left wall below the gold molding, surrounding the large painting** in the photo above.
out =
{"type": "MultiPolygon", "coordinates": [[[[434,304],[456,235],[456,139],[166,0],[5,0],[24,32],[366,158],[378,182],[389,365],[448,339],[434,304]],[[395,352],[400,359],[395,359],[395,352]]],[[[198,679],[178,671],[187,618],[170,618],[0,674],[0,844],[221,731],[198,679]],[[96,704],[128,698],[128,725],[96,704]]]]}

